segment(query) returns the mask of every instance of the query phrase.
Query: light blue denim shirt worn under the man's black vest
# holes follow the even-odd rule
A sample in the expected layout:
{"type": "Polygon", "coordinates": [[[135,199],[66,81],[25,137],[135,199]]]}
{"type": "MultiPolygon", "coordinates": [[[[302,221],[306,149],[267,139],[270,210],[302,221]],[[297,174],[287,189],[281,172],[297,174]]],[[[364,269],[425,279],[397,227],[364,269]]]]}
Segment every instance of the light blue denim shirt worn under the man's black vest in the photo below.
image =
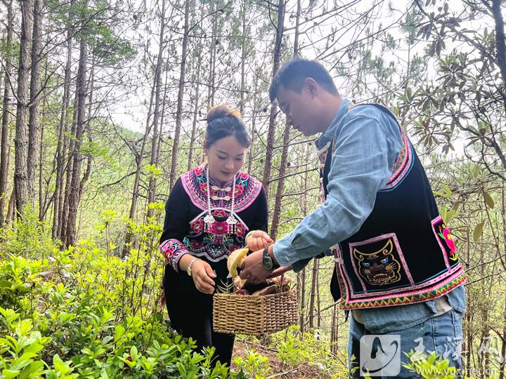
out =
{"type": "MultiPolygon", "coordinates": [[[[302,270],[311,258],[329,255],[328,249],[355,234],[374,208],[376,193],[388,182],[403,142],[399,126],[379,107],[357,107],[348,112],[343,99],[327,131],[316,140],[323,149],[332,140],[338,147],[332,155],[328,195],[323,204],[307,215],[294,230],[274,244],[280,265],[302,270]]],[[[458,312],[465,311],[463,286],[447,294],[458,312]]],[[[356,311],[353,311],[356,312],[356,311]]],[[[396,307],[360,310],[361,321],[372,333],[409,328],[436,314],[434,300],[396,307]]]]}

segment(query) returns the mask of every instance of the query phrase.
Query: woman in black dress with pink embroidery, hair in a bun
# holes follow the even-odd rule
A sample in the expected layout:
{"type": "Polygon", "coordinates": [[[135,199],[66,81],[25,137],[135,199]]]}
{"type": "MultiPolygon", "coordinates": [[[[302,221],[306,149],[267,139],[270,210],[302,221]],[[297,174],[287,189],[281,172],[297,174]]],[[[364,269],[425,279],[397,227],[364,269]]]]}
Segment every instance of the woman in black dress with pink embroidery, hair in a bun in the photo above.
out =
{"type": "Polygon", "coordinates": [[[261,182],[241,170],[249,135],[237,110],[218,105],[207,114],[207,164],[181,175],[165,206],[160,250],[167,258],[164,290],[172,326],[197,341],[199,350],[216,347],[231,364],[234,335],[212,330],[212,294],[231,284],[226,260],[251,241],[270,244],[267,199],[261,182]],[[248,236],[248,237],[249,237],[248,236]]]}

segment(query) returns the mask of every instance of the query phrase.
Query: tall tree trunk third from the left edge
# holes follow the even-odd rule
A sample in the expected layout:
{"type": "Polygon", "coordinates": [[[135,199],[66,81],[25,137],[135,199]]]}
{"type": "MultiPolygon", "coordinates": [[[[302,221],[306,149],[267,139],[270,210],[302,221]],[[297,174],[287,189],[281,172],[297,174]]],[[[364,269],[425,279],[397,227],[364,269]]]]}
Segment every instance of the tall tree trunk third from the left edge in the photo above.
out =
{"type": "Polygon", "coordinates": [[[28,121],[28,193],[32,206],[35,204],[35,182],[40,149],[40,98],[42,65],[42,8],[44,0],[34,0],[32,34],[32,79],[30,81],[30,120],[28,121]]]}

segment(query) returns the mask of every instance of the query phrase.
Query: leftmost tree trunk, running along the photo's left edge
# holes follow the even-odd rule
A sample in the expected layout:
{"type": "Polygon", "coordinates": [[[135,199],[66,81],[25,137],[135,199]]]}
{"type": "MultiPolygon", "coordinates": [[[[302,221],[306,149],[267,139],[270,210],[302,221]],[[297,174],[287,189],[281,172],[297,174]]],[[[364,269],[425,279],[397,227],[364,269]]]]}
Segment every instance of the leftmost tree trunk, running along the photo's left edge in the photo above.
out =
{"type": "MultiPolygon", "coordinates": [[[[11,46],[13,36],[13,0],[5,4],[7,8],[7,30],[6,46],[11,46]]],[[[4,208],[7,197],[7,177],[8,177],[8,157],[10,148],[8,144],[8,126],[11,122],[11,75],[12,62],[11,56],[5,57],[5,77],[4,77],[4,101],[2,107],[2,124],[0,137],[0,227],[4,226],[4,208]]]]}

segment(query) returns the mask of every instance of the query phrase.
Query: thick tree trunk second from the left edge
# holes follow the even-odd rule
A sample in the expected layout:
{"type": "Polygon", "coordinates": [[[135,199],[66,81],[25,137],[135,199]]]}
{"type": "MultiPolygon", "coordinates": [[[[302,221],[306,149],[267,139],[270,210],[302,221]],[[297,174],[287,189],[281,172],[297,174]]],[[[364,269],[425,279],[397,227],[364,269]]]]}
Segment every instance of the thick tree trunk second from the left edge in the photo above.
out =
{"type": "Polygon", "coordinates": [[[18,67],[18,106],[15,126],[14,185],[18,214],[28,202],[28,113],[30,103],[30,48],[34,0],[21,2],[21,41],[18,67]]]}

